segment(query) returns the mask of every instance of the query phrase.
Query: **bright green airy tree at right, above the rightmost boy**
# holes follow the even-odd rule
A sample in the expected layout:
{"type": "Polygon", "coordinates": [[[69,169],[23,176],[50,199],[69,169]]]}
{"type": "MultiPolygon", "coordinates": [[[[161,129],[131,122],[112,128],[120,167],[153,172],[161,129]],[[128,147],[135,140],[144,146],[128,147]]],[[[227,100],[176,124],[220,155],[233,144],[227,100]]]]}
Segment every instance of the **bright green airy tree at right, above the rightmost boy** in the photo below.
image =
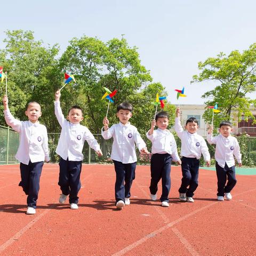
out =
{"type": "MultiPolygon", "coordinates": [[[[193,76],[192,82],[203,82],[212,80],[218,85],[214,90],[202,95],[207,99],[207,106],[214,106],[218,103],[221,113],[214,116],[214,123],[219,124],[220,120],[229,121],[255,119],[251,113],[250,106],[255,105],[256,100],[250,99],[248,94],[256,90],[256,43],[242,53],[235,50],[228,56],[220,53],[216,58],[208,58],[198,63],[199,75],[193,76]]],[[[206,122],[211,123],[212,111],[205,111],[206,122]]]]}

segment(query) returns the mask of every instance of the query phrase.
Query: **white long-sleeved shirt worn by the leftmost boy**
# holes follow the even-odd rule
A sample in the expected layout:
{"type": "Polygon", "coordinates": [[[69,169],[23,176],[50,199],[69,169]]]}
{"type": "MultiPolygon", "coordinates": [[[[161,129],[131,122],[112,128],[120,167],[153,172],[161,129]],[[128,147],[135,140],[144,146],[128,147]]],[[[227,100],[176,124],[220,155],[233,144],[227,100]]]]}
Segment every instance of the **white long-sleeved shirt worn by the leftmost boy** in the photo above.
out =
{"type": "Polygon", "coordinates": [[[50,161],[48,136],[46,127],[38,121],[20,121],[15,119],[10,110],[4,110],[4,118],[7,125],[20,134],[19,148],[15,158],[23,164],[50,161]]]}

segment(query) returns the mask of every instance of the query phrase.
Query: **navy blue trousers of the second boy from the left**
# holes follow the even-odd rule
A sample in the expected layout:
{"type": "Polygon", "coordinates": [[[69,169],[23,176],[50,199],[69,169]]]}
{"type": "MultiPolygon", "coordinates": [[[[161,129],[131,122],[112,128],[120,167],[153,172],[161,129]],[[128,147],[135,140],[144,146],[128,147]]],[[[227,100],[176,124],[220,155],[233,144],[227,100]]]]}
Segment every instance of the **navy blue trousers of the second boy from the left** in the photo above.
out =
{"type": "Polygon", "coordinates": [[[82,161],[69,161],[60,158],[59,183],[63,195],[69,195],[69,203],[78,203],[78,192],[81,189],[80,175],[82,161]]]}

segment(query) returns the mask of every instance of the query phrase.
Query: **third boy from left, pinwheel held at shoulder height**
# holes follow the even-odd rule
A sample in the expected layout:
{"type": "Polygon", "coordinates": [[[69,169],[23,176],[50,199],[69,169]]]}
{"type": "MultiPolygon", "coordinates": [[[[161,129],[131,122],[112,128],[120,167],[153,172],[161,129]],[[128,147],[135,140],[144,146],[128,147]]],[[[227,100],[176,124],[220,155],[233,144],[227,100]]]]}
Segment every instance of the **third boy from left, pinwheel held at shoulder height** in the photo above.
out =
{"type": "Polygon", "coordinates": [[[119,123],[108,127],[109,121],[103,119],[104,127],[101,135],[105,140],[113,137],[114,142],[111,151],[111,159],[115,165],[116,182],[115,198],[116,208],[122,210],[124,205],[130,204],[131,185],[135,179],[135,168],[137,156],[135,143],[142,154],[148,154],[145,142],[141,139],[137,128],[130,124],[133,107],[129,102],[123,102],[117,106],[117,117],[119,123]]]}

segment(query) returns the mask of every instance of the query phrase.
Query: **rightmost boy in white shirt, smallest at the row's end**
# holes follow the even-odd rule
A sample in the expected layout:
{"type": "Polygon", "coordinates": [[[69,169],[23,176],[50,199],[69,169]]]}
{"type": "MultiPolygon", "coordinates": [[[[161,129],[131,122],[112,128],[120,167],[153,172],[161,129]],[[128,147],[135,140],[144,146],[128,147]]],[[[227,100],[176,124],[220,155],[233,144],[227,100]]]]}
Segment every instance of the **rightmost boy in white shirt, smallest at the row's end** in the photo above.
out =
{"type": "Polygon", "coordinates": [[[207,141],[210,144],[216,144],[215,160],[216,160],[216,173],[218,179],[218,201],[224,201],[224,195],[228,200],[232,199],[230,191],[236,185],[236,172],[235,172],[235,159],[237,159],[239,167],[242,166],[241,153],[238,141],[230,135],[233,132],[232,124],[229,121],[222,121],[220,123],[220,134],[212,137],[213,126],[207,134],[207,141]],[[226,181],[228,179],[227,185],[226,181]]]}

